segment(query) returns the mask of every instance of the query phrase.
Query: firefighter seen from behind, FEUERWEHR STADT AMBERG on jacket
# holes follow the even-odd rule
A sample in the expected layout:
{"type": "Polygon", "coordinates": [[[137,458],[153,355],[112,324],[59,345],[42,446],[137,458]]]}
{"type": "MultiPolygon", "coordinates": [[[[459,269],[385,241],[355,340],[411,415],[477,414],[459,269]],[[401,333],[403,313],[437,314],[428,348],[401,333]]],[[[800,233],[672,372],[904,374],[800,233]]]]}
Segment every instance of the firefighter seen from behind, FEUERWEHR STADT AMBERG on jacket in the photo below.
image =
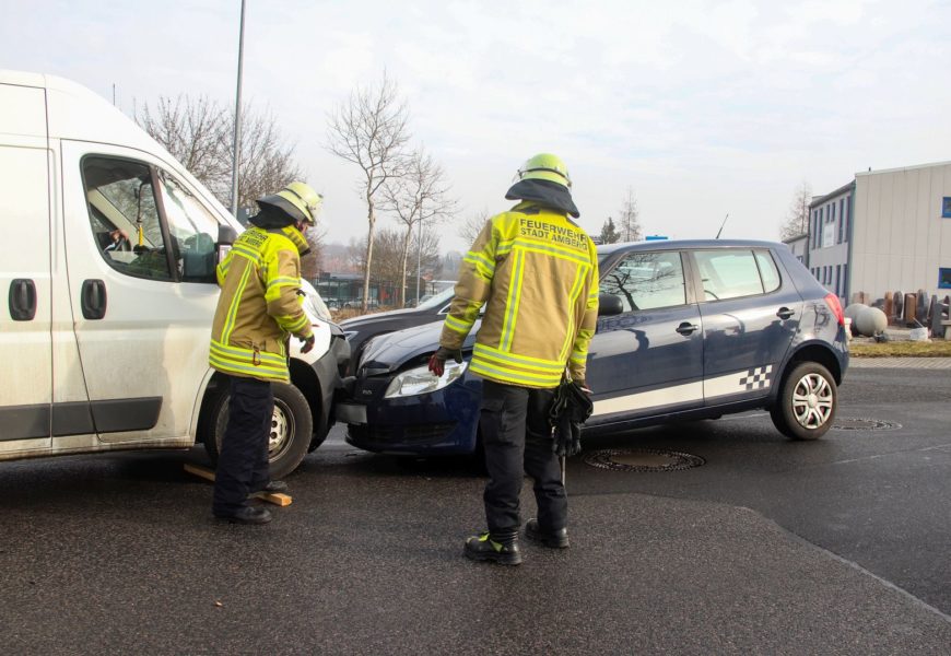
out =
{"type": "Polygon", "coordinates": [[[585,386],[598,315],[597,251],[568,218],[578,210],[564,162],[536,155],[516,177],[505,198],[520,202],[490,219],[463,258],[439,349],[430,360],[438,376],[447,360],[461,364],[462,342],[486,305],[469,370],[483,379],[488,531],[469,538],[465,553],[508,565],[521,562],[523,469],[535,479],[538,504],[526,536],[552,548],[568,546],[567,497],[549,409],[566,370],[585,386]]]}

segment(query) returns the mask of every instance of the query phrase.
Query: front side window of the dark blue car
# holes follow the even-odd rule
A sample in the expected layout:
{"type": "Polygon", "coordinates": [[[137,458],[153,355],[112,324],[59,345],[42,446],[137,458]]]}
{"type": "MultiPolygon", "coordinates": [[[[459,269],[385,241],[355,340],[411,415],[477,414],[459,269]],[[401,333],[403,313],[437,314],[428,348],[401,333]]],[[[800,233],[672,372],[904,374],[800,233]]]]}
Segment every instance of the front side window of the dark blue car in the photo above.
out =
{"type": "Polygon", "coordinates": [[[600,292],[621,298],[624,312],[686,303],[679,251],[631,253],[601,277],[600,292]]]}

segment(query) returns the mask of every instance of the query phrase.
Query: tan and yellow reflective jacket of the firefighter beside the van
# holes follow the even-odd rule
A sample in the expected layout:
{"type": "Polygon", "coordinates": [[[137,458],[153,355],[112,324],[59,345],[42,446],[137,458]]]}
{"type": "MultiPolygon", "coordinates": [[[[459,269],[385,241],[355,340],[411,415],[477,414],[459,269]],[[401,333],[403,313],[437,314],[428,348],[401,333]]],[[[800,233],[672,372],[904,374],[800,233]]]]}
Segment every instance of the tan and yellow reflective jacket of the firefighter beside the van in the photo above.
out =
{"type": "Polygon", "coordinates": [[[209,364],[225,374],[290,382],[287,339],[313,333],[304,313],[301,253],[307,241],[292,225],[250,227],[218,266],[221,296],[211,329],[209,364]]]}

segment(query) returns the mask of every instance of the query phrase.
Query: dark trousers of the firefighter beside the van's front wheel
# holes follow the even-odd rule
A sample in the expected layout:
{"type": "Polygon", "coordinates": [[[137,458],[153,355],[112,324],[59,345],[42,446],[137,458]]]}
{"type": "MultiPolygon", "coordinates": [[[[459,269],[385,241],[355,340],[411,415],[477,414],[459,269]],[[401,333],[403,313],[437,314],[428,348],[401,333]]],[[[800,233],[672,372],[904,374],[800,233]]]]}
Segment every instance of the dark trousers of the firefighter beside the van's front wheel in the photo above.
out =
{"type": "Polygon", "coordinates": [[[211,509],[227,514],[247,505],[248,494],[262,490],[268,473],[268,435],[274,412],[271,384],[228,376],[227,429],[218,456],[211,509]]]}

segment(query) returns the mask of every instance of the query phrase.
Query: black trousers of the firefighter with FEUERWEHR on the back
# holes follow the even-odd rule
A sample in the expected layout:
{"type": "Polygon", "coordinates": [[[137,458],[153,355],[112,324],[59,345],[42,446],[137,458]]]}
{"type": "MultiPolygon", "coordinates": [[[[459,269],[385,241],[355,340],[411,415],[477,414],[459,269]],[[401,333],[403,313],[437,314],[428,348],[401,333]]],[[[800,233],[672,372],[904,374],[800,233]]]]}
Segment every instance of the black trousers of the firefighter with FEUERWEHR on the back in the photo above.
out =
{"type": "Polygon", "coordinates": [[[514,536],[521,526],[518,506],[523,471],[535,479],[539,525],[544,530],[567,526],[568,501],[548,421],[553,398],[553,388],[482,382],[480,425],[489,470],[483,500],[493,537],[514,536]]]}

